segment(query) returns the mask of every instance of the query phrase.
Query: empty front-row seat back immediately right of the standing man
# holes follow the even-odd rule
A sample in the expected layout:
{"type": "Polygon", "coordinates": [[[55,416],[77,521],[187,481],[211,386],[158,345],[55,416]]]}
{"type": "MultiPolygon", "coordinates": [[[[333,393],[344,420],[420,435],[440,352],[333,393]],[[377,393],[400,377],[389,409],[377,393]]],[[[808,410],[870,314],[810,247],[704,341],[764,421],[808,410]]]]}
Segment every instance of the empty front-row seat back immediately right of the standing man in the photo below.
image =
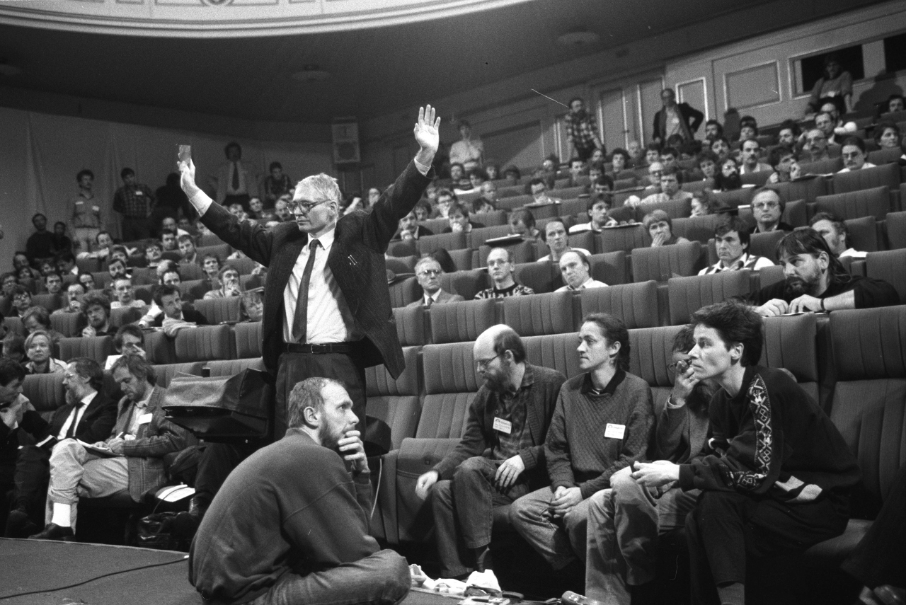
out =
{"type": "Polygon", "coordinates": [[[406,437],[415,437],[419,426],[419,352],[420,347],[403,347],[406,363],[400,378],[393,379],[383,364],[365,369],[368,415],[390,427],[393,449],[399,449],[406,437]]]}

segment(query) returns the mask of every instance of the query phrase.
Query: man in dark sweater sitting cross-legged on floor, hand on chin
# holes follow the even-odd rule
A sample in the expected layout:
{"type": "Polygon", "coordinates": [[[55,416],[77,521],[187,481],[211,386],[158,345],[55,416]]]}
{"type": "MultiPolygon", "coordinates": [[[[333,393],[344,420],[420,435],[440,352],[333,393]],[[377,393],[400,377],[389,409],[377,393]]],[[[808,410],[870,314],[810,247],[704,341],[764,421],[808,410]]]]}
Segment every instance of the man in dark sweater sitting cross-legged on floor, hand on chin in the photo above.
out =
{"type": "Polygon", "coordinates": [[[409,566],[369,535],[371,482],[352,399],[309,378],[288,428],[236,466],[198,528],[189,581],[215,603],[399,602],[409,566]]]}

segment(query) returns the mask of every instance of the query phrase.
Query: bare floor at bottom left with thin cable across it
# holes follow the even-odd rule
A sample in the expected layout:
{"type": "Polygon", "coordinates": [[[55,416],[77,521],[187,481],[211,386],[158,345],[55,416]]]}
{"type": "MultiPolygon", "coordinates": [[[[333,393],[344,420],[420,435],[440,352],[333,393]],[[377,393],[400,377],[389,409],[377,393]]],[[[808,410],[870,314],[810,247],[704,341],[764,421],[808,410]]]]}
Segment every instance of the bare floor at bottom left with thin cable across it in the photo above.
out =
{"type": "MultiPolygon", "coordinates": [[[[451,605],[410,592],[403,605],[451,605]]],[[[185,552],[0,538],[2,605],[203,605],[185,552]]]]}

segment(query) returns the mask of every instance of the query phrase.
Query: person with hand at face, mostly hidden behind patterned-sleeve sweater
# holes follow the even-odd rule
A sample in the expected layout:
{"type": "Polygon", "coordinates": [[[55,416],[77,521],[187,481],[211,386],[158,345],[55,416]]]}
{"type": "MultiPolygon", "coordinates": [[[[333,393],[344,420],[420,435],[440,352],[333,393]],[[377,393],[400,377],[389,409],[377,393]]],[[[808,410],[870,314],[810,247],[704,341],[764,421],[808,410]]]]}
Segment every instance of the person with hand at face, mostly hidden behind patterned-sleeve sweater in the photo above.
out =
{"type": "MultiPolygon", "coordinates": [[[[693,376],[689,351],[695,347],[691,326],[673,339],[673,390],[660,412],[653,459],[686,464],[706,445],[710,422],[708,403],[717,386],[693,376]]],[[[609,489],[588,504],[588,559],[585,596],[605,603],[630,605],[632,596],[654,580],[658,535],[682,527],[699,490],[684,492],[677,485],[646,488],[627,466],[614,473],[609,489]]]]}

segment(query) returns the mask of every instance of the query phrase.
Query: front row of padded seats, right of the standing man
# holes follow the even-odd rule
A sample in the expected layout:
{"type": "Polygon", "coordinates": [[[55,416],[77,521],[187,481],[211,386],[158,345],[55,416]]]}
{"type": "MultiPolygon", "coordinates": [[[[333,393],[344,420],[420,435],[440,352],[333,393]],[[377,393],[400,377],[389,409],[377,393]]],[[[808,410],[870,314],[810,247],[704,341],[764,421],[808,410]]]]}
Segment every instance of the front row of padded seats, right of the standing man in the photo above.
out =
{"type": "MultiPolygon", "coordinates": [[[[856,516],[872,517],[903,464],[906,439],[906,306],[770,318],[764,321],[761,363],[786,368],[823,402],[863,469],[856,516]]],[[[656,413],[670,392],[671,345],[679,326],[630,330],[630,371],[648,381],[656,413]]],[[[580,373],[576,333],[525,338],[528,360],[580,373]]],[[[467,409],[479,386],[472,342],[405,347],[406,370],[393,380],[368,371],[369,414],[391,427],[394,447],[384,456],[379,514],[372,532],[390,543],[423,541],[430,512],[414,495],[415,481],[462,436],[467,409]]],[[[854,520],[841,538],[813,549],[838,564],[870,522],[854,520]]]]}

